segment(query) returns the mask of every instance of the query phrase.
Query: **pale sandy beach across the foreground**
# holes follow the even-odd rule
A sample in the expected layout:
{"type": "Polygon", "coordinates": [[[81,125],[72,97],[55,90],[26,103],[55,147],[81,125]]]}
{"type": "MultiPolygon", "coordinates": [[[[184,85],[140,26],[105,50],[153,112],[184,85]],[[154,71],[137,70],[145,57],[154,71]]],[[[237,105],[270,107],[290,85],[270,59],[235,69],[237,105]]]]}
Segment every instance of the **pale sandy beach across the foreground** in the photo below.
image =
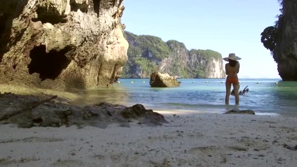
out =
{"type": "Polygon", "coordinates": [[[0,125],[0,166],[297,167],[297,118],[167,114],[156,127],[0,125]]]}

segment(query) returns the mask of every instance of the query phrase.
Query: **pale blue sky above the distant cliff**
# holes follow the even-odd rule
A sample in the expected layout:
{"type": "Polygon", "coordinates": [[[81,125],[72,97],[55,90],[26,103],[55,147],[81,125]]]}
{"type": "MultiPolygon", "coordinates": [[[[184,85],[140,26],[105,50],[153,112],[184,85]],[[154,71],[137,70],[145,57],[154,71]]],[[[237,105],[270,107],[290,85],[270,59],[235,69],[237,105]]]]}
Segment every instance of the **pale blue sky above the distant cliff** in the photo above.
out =
{"type": "MultiPolygon", "coordinates": [[[[125,0],[122,23],[137,35],[177,40],[190,49],[241,57],[239,78],[280,78],[260,41],[274,25],[277,0],[125,0]]],[[[224,63],[225,64],[225,63],[224,63]]]]}

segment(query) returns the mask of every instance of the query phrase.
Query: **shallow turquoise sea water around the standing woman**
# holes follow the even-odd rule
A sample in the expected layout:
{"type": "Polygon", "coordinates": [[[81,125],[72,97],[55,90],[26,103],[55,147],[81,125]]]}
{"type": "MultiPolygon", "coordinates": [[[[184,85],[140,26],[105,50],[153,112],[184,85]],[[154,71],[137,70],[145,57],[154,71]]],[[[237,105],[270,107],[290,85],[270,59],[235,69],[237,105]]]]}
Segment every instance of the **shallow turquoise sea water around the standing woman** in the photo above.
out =
{"type": "MultiPolygon", "coordinates": [[[[79,91],[84,98],[75,103],[144,104],[154,110],[206,113],[223,113],[234,108],[234,96],[230,96],[230,107],[225,106],[225,84],[221,83],[225,79],[179,79],[182,82],[180,87],[174,88],[152,88],[149,79],[119,81],[112,88],[79,91]]],[[[247,85],[250,89],[240,96],[239,109],[252,109],[258,115],[297,116],[297,82],[279,79],[239,79],[239,82],[240,90],[247,85]]]]}

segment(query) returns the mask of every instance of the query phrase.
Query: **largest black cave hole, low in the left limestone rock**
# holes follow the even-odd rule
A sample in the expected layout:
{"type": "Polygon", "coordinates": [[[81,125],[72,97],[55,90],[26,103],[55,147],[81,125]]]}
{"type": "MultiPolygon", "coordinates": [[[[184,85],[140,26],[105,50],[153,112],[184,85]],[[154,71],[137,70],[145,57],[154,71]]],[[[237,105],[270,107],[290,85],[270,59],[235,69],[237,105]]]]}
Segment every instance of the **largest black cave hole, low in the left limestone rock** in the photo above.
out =
{"type": "Polygon", "coordinates": [[[43,81],[45,79],[55,80],[65,69],[70,60],[65,54],[71,49],[65,47],[60,51],[51,50],[49,53],[45,51],[46,46],[35,46],[30,51],[31,63],[28,65],[29,74],[39,73],[39,78],[43,81]]]}

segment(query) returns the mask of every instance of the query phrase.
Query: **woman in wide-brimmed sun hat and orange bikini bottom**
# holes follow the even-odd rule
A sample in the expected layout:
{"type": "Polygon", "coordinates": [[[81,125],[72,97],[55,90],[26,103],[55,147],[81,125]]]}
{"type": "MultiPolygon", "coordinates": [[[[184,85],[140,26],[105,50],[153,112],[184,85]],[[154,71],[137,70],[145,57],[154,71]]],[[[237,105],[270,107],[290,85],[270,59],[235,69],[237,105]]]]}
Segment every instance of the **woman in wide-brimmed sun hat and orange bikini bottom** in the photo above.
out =
{"type": "Polygon", "coordinates": [[[231,93],[231,84],[233,84],[233,89],[234,89],[234,95],[235,95],[235,104],[239,104],[239,94],[238,94],[238,89],[239,89],[239,82],[238,82],[238,77],[237,73],[239,72],[239,62],[241,58],[235,56],[234,53],[230,53],[228,58],[224,58],[224,61],[227,61],[229,63],[226,64],[225,66],[225,71],[227,75],[226,79],[226,98],[225,98],[225,103],[229,104],[229,97],[231,93]]]}

